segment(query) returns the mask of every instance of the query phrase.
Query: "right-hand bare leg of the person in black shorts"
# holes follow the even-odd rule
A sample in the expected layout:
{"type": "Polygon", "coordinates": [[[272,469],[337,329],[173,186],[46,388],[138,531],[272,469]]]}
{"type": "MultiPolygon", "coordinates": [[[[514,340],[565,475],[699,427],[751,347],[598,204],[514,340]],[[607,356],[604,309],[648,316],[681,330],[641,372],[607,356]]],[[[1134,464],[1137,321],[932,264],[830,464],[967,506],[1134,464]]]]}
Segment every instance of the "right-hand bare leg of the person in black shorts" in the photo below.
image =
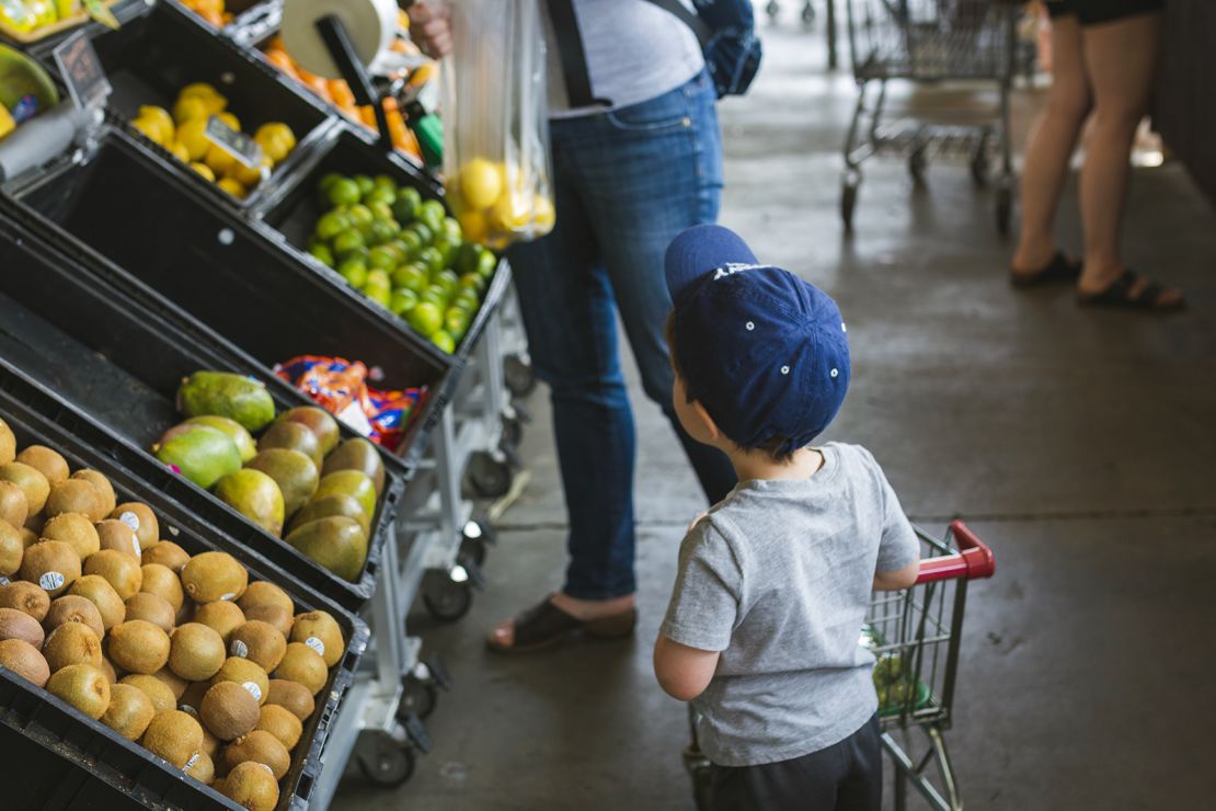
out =
{"type": "MultiPolygon", "coordinates": [[[[1124,272],[1119,235],[1127,198],[1130,156],[1136,128],[1148,108],[1161,36],[1161,15],[1147,13],[1082,30],[1086,74],[1093,88],[1093,124],[1081,170],[1085,224],[1082,293],[1107,289],[1124,272]]],[[[1147,280],[1141,278],[1135,294],[1147,280]]],[[[1165,291],[1160,304],[1181,302],[1165,291]]]]}

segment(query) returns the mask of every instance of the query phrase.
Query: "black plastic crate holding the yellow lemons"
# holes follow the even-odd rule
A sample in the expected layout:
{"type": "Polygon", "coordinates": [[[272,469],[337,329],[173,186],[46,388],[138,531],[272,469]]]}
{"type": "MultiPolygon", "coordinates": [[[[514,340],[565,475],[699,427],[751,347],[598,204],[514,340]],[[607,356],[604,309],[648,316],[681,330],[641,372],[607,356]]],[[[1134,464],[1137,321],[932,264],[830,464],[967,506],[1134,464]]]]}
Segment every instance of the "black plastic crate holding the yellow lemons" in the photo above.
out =
{"type": "MultiPolygon", "coordinates": [[[[191,184],[206,188],[207,193],[229,205],[248,208],[257,203],[269,187],[280,182],[304,159],[313,145],[334,124],[325,105],[229,39],[216,36],[201,17],[174,2],[145,6],[143,13],[122,28],[101,29],[92,36],[92,44],[113,86],[106,108],[118,120],[133,120],[143,105],[156,105],[171,112],[182,88],[206,81],[227,97],[227,112],[240,119],[242,130],[248,135],[252,136],[266,122],[282,122],[292,129],[297,139],[295,150],[244,199],[230,196],[163,147],[131,130],[135,137],[165,157],[175,174],[188,178],[191,184]]],[[[50,50],[40,51],[39,57],[57,73],[58,67],[50,50]]]]}

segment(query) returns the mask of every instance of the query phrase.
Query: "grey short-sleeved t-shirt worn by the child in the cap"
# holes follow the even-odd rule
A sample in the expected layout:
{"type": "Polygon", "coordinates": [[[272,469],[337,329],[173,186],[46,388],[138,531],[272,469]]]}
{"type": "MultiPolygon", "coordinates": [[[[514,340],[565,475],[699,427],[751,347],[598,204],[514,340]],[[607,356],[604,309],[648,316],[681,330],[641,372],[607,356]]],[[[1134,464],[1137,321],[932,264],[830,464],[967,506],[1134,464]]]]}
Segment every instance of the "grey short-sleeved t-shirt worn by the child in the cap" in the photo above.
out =
{"type": "Polygon", "coordinates": [[[818,751],[878,709],[860,644],[874,573],[908,565],[919,544],[869,451],[818,450],[815,475],[739,483],[680,545],[660,632],[721,651],[693,705],[722,766],[818,751]]]}

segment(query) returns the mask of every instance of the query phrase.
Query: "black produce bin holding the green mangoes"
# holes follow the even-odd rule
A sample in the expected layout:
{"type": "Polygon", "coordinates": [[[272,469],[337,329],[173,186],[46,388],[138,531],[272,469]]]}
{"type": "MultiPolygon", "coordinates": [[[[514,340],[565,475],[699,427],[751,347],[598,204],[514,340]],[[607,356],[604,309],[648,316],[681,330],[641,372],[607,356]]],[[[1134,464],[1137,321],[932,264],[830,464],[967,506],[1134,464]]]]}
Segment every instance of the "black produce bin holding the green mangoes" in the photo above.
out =
{"type": "MultiPolygon", "coordinates": [[[[72,260],[36,235],[23,235],[0,220],[0,356],[135,447],[147,449],[181,419],[174,404],[181,378],[201,368],[231,366],[223,351],[209,348],[221,349],[215,336],[197,328],[188,331],[188,319],[174,320],[173,314],[158,311],[154,300],[140,303],[123,293],[120,286],[97,283],[91,267],[91,263],[72,260]]],[[[268,389],[278,411],[305,402],[281,382],[268,389]]],[[[344,435],[355,434],[344,429],[344,435]]],[[[169,491],[181,503],[304,582],[353,610],[371,598],[404,489],[398,472],[385,469],[367,562],[359,580],[351,582],[173,474],[153,457],[143,460],[171,481],[169,491]]]]}

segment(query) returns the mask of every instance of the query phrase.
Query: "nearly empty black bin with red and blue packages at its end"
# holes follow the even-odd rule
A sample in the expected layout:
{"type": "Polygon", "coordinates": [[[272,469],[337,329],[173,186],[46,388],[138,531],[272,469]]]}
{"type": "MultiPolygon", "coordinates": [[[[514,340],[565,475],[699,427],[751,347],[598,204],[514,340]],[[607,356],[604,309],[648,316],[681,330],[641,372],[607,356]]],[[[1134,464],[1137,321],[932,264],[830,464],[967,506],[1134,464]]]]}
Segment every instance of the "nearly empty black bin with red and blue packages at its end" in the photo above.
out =
{"type": "Polygon", "coordinates": [[[416,463],[460,361],[389,323],[337,274],[304,266],[265,226],[175,182],[163,164],[126,134],[106,129],[90,159],[63,158],[9,191],[26,227],[51,242],[75,236],[111,259],[96,271],[112,287],[168,299],[264,366],[339,356],[379,370],[378,388],[427,387],[392,449],[416,463]],[[171,238],[147,235],[148,227],[171,238]]]}

